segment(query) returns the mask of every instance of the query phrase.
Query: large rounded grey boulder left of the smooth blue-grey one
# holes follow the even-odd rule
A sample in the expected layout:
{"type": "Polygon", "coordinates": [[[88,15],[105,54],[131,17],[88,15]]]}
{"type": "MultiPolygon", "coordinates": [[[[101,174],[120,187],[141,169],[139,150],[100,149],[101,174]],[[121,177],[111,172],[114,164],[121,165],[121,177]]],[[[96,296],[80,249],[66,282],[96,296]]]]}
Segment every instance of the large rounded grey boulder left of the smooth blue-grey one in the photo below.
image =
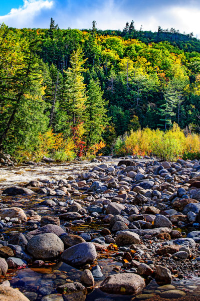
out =
{"type": "Polygon", "coordinates": [[[51,259],[64,251],[64,243],[56,234],[44,233],[32,237],[27,250],[37,259],[51,259]]]}

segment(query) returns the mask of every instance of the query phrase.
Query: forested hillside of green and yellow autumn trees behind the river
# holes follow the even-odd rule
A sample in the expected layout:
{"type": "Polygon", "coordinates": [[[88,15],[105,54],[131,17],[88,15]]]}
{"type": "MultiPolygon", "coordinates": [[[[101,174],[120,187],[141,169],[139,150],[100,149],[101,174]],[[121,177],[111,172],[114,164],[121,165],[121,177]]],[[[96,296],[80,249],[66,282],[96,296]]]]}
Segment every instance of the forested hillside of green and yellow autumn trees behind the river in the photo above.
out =
{"type": "Polygon", "coordinates": [[[117,136],[176,122],[198,131],[200,41],[157,33],[0,28],[0,144],[11,155],[95,154],[117,136]]]}

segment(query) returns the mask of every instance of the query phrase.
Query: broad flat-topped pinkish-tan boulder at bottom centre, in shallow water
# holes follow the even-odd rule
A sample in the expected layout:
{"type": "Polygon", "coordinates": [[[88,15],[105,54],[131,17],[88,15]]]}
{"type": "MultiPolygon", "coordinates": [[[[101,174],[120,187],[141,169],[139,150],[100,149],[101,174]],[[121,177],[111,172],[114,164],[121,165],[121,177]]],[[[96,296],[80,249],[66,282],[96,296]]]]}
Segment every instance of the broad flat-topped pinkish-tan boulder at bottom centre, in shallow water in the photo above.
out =
{"type": "Polygon", "coordinates": [[[108,276],[100,286],[102,291],[114,294],[135,294],[145,286],[141,276],[134,273],[121,273],[108,276]]]}

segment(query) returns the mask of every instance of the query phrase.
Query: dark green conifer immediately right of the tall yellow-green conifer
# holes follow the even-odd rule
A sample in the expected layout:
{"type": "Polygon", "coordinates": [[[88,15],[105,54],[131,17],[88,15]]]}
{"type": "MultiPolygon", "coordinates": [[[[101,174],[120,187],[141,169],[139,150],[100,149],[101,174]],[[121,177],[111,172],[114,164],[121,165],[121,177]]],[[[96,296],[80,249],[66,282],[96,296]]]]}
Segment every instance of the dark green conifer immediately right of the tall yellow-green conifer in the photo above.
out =
{"type": "Polygon", "coordinates": [[[99,82],[91,79],[87,89],[88,98],[85,103],[85,127],[87,132],[87,146],[89,146],[102,139],[102,133],[108,124],[109,118],[106,115],[106,105],[108,102],[102,99],[103,92],[101,91],[99,82]]]}

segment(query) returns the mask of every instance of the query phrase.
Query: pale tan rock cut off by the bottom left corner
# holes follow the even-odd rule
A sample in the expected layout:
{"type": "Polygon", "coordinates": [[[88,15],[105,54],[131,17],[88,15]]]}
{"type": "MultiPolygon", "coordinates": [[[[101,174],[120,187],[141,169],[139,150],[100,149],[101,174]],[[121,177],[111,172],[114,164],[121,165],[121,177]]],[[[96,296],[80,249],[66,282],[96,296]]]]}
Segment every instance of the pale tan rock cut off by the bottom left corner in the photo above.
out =
{"type": "Polygon", "coordinates": [[[0,299],[4,301],[29,301],[21,291],[8,286],[0,286],[0,299]]]}

